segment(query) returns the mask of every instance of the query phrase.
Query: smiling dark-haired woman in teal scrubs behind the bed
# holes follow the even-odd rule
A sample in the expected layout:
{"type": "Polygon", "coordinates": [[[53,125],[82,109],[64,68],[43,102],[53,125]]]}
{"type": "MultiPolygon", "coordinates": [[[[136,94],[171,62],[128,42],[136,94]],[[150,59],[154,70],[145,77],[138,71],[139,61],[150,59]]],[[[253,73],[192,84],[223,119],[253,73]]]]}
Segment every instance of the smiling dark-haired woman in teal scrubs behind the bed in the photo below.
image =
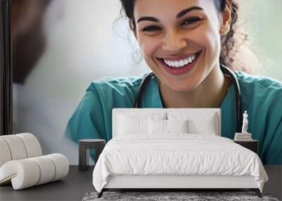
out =
{"type": "MultiPolygon", "coordinates": [[[[91,83],[68,122],[66,135],[111,140],[111,111],[132,108],[220,108],[221,135],[233,139],[238,114],[247,110],[248,132],[259,140],[264,164],[282,164],[282,83],[250,75],[236,57],[246,37],[237,31],[235,0],[121,0],[130,29],[152,70],[144,76],[91,83]],[[223,73],[230,72],[237,84],[223,73]],[[236,101],[237,100],[237,101],[236,101]]],[[[198,133],[201,134],[201,133],[198,133]]]]}

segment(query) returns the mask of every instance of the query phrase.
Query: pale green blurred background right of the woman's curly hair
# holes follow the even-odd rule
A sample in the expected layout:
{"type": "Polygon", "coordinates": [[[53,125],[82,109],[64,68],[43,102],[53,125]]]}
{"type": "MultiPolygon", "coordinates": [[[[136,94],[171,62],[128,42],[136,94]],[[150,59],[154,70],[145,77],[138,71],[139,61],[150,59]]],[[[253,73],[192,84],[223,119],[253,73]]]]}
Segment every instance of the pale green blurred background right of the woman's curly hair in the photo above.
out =
{"type": "Polygon", "coordinates": [[[282,1],[238,0],[241,25],[249,32],[252,51],[262,64],[262,75],[282,81],[282,1]]]}

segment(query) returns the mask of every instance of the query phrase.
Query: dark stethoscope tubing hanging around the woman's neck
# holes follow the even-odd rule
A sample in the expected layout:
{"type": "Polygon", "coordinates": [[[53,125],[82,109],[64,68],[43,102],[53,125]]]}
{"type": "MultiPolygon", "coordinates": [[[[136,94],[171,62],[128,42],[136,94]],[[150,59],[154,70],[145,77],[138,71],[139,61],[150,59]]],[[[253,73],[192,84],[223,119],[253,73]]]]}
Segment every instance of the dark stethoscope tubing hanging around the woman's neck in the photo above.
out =
{"type": "MultiPolygon", "coordinates": [[[[226,75],[227,78],[231,80],[231,83],[234,86],[235,89],[235,97],[236,97],[236,113],[237,113],[237,128],[236,131],[238,133],[241,132],[242,128],[242,123],[243,123],[243,114],[242,114],[242,104],[241,104],[241,90],[240,90],[240,85],[238,82],[238,79],[236,75],[231,71],[229,68],[226,66],[221,65],[221,71],[223,72],[224,75],[226,75]]],[[[140,108],[141,104],[141,97],[142,97],[142,92],[144,91],[148,81],[150,78],[152,78],[154,73],[150,72],[145,77],[142,79],[140,86],[137,91],[137,96],[135,98],[135,108],[140,108]]]]}

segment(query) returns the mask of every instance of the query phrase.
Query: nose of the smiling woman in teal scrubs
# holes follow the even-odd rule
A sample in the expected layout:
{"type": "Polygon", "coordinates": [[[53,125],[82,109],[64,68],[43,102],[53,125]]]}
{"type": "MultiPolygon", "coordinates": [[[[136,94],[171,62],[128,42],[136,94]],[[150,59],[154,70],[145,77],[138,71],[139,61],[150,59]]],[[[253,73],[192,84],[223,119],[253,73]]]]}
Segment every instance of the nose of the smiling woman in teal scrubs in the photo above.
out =
{"type": "Polygon", "coordinates": [[[167,51],[179,51],[187,45],[187,41],[183,35],[175,30],[170,30],[166,32],[162,47],[167,51]]]}

